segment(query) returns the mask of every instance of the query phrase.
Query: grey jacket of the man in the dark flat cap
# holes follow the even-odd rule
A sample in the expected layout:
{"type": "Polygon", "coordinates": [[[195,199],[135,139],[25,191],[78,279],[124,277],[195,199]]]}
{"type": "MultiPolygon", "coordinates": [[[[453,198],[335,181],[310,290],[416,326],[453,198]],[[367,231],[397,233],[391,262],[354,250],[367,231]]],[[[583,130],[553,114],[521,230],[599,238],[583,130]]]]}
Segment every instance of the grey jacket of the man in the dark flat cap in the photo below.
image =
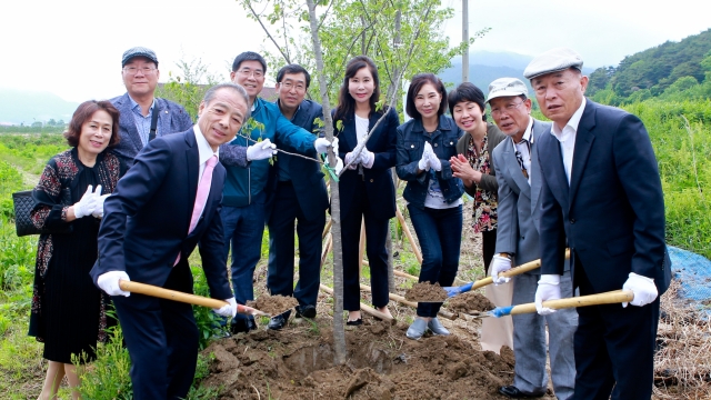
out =
{"type": "MultiPolygon", "coordinates": [[[[113,149],[128,167],[133,166],[133,159],[143,148],[143,142],[136,128],[133,111],[131,111],[131,99],[129,93],[111,99],[111,103],[119,110],[119,134],[121,141],[113,149]]],[[[192,128],[192,119],[182,106],[166,99],[156,98],[156,107],[153,111],[158,111],[158,130],[157,137],[184,132],[192,128]]]]}

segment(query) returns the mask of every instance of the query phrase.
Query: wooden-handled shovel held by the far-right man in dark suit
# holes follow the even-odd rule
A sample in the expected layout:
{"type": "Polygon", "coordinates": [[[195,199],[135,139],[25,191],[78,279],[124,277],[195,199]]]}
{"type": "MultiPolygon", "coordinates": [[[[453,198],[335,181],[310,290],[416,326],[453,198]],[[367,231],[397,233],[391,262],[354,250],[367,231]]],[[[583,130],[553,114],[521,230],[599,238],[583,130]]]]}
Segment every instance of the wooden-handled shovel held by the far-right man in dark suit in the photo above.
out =
{"type": "MultiPolygon", "coordinates": [[[[543,301],[543,307],[548,307],[553,310],[560,310],[564,308],[573,307],[588,307],[600,304],[614,304],[621,302],[629,302],[634,299],[634,293],[631,290],[613,290],[604,293],[580,296],[577,298],[558,299],[543,301]]],[[[479,313],[472,313],[474,318],[501,318],[505,316],[515,316],[520,313],[535,312],[535,303],[525,303],[519,306],[497,307],[491,311],[484,311],[479,313]]]]}

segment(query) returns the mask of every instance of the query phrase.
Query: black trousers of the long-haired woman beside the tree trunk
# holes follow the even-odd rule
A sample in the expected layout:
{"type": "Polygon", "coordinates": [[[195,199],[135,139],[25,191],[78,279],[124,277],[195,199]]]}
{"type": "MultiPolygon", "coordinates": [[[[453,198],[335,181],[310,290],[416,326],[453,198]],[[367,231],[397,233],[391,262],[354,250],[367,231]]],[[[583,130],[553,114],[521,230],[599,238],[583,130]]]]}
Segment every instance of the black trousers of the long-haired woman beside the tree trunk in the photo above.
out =
{"type": "Polygon", "coordinates": [[[360,281],[358,274],[358,250],[360,244],[361,218],[365,221],[365,253],[370,266],[370,287],[373,306],[388,306],[388,219],[374,218],[368,202],[365,186],[356,190],[352,207],[341,214],[341,238],[343,242],[343,308],[360,310],[360,281]]]}

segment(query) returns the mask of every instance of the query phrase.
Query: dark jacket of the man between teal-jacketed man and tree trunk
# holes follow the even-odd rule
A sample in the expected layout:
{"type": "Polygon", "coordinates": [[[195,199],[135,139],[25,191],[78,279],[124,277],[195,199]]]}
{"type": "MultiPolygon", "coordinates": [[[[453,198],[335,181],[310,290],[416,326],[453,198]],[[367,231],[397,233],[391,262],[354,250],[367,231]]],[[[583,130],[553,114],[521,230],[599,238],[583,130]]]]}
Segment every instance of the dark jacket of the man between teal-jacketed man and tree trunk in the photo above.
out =
{"type": "MultiPolygon", "coordinates": [[[[314,137],[321,131],[321,127],[314,123],[314,120],[320,118],[323,120],[323,109],[321,104],[311,101],[303,100],[299,109],[293,114],[291,123],[297,127],[301,127],[309,132],[313,132],[314,137]]],[[[284,149],[289,152],[297,152],[298,149],[293,149],[288,142],[284,142],[277,138],[277,148],[284,149]]],[[[317,156],[318,157],[318,156],[317,156]]],[[[323,180],[323,172],[321,172],[321,164],[318,162],[309,161],[301,157],[293,157],[284,153],[280,153],[274,161],[269,174],[268,186],[268,201],[267,201],[267,214],[272,209],[273,193],[277,190],[277,183],[279,181],[279,170],[284,168],[289,171],[289,179],[293,184],[294,193],[297,194],[297,201],[303,212],[307,220],[317,220],[320,216],[323,216],[329,208],[329,193],[326,190],[326,181],[323,180]]]]}

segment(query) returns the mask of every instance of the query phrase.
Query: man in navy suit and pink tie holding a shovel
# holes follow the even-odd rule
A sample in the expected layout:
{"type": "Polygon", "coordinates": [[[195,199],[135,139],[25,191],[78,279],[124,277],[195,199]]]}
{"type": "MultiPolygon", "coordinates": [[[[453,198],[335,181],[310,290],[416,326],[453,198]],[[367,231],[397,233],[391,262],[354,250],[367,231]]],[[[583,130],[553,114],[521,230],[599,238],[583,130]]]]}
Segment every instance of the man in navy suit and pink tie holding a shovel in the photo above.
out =
{"type": "MultiPolygon", "coordinates": [[[[137,293],[129,297],[119,280],[130,277],[191,293],[188,258],[200,242],[210,296],[229,303],[216,311],[223,317],[236,314],[222,258],[220,207],[226,173],[218,149],[249,118],[247,102],[247,92],[237,84],[208,90],[198,123],[151,141],[104,202],[100,257],[91,277],[113,296],[131,356],[137,400],[188,394],[198,358],[198,328],[190,304],[137,293]]],[[[271,157],[271,149],[260,157],[271,157]]],[[[246,159],[242,164],[248,164],[246,159]]]]}

